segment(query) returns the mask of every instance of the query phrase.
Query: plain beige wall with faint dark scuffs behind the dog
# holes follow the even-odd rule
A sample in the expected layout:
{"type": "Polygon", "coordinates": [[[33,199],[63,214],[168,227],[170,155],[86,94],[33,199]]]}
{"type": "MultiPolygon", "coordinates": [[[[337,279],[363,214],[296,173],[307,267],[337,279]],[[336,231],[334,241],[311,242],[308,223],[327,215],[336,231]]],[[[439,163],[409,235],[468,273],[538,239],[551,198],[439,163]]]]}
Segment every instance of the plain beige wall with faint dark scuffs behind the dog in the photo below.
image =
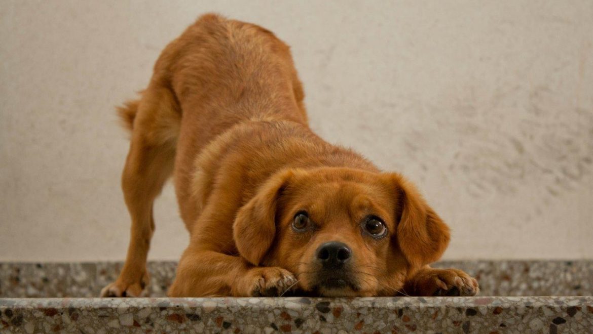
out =
{"type": "MultiPolygon", "coordinates": [[[[0,261],[123,259],[114,105],[200,13],[292,46],[315,131],[415,181],[446,257],[593,257],[593,2],[0,0],[0,261]]],[[[150,257],[187,234],[170,185],[150,257]]]]}

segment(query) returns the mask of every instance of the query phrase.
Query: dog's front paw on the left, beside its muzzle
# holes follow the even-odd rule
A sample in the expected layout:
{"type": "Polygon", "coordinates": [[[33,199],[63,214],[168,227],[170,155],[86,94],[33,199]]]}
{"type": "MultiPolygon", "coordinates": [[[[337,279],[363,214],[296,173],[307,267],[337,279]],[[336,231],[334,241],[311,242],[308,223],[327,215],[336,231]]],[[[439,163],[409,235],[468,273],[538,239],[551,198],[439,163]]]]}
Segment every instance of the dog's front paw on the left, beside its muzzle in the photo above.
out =
{"type": "Polygon", "coordinates": [[[276,297],[295,290],[297,278],[278,266],[250,269],[247,275],[248,296],[276,297]]]}

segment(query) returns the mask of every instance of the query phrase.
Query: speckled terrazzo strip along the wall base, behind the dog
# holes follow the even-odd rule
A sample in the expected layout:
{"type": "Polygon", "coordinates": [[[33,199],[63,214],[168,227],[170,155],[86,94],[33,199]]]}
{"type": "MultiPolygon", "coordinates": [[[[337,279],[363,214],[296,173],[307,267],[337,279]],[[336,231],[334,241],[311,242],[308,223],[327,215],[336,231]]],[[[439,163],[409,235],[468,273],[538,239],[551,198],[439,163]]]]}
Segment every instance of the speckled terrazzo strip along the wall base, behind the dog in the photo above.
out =
{"type": "MultiPolygon", "coordinates": [[[[149,262],[151,297],[165,297],[176,262],[149,262]]],[[[593,296],[593,260],[444,261],[480,282],[480,296],[593,296]]],[[[97,297],[122,267],[116,262],[2,263],[0,297],[97,297]]]]}

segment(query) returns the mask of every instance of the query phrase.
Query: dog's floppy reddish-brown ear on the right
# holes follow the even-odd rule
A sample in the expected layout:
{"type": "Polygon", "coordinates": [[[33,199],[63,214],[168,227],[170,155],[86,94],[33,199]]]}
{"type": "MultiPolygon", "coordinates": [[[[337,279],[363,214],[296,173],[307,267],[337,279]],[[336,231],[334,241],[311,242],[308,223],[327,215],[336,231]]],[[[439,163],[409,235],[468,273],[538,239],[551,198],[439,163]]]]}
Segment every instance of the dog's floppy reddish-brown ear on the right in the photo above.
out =
{"type": "Polygon", "coordinates": [[[435,262],[449,245],[449,227],[426,204],[416,187],[399,174],[391,174],[397,190],[397,244],[413,266],[435,262]]]}

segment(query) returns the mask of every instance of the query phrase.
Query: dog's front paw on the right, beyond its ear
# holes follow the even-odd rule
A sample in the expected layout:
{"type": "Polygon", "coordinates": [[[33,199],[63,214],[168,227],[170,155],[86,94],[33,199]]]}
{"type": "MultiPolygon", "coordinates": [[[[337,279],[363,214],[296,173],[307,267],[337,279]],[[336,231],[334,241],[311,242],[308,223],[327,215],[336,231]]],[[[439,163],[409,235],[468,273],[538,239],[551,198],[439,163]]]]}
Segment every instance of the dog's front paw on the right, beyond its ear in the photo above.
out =
{"type": "Polygon", "coordinates": [[[476,279],[459,269],[424,269],[412,285],[417,296],[476,296],[480,291],[476,279]]]}

